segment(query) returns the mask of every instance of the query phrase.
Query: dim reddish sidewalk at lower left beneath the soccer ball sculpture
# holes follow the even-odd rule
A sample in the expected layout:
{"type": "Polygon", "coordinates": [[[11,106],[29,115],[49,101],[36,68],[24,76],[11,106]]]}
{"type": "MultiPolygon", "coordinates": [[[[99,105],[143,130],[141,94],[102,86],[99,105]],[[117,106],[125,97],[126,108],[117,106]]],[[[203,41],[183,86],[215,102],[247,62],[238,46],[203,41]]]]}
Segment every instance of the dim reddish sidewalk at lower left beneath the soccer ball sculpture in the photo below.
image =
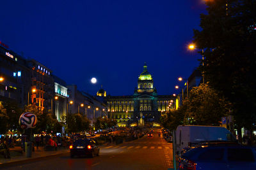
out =
{"type": "MultiPolygon", "coordinates": [[[[15,146],[15,150],[20,150],[20,146],[15,146]]],[[[44,157],[52,157],[55,155],[61,155],[63,153],[68,153],[68,148],[58,148],[58,151],[44,151],[44,148],[42,146],[39,146],[38,149],[35,147],[35,152],[32,152],[32,157],[27,158],[26,153],[19,153],[16,151],[11,151],[10,159],[4,159],[3,155],[0,155],[0,168],[16,163],[23,163],[23,162],[29,162],[31,160],[37,160],[42,159],[44,157]]]]}

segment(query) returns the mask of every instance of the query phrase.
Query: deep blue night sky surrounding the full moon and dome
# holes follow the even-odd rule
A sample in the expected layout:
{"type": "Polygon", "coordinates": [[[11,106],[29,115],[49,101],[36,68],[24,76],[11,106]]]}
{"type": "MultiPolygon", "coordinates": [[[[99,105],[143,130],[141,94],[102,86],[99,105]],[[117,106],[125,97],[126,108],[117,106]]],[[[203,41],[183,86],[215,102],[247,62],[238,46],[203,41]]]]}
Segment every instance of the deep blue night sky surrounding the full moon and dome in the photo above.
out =
{"type": "Polygon", "coordinates": [[[90,94],[100,85],[112,96],[133,94],[144,62],[158,94],[172,94],[177,77],[198,66],[186,47],[203,0],[12,0],[0,10],[0,41],[90,94]]]}

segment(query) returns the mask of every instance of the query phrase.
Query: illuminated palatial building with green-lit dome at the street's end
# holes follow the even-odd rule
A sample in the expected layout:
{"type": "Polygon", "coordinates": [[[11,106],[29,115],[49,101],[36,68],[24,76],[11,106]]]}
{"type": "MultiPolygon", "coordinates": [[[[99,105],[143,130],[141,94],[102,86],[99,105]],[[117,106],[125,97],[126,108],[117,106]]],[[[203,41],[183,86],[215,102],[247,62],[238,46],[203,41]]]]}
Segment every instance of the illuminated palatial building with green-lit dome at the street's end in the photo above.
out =
{"type": "Polygon", "coordinates": [[[118,125],[138,122],[138,124],[159,122],[161,113],[175,108],[171,95],[157,95],[152,75],[147,65],[138,78],[138,86],[132,96],[107,96],[108,115],[115,118],[118,125]]]}

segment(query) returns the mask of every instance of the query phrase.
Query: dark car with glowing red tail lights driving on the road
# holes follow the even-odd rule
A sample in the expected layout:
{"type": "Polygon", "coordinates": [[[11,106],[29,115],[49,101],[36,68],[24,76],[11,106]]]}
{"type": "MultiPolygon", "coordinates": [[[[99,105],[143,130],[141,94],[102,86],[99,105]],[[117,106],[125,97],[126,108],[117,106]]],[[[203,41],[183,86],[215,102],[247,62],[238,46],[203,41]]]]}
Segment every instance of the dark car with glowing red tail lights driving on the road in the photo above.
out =
{"type": "Polygon", "coordinates": [[[96,145],[92,139],[77,139],[69,146],[70,157],[74,156],[99,156],[100,148],[96,145]]]}

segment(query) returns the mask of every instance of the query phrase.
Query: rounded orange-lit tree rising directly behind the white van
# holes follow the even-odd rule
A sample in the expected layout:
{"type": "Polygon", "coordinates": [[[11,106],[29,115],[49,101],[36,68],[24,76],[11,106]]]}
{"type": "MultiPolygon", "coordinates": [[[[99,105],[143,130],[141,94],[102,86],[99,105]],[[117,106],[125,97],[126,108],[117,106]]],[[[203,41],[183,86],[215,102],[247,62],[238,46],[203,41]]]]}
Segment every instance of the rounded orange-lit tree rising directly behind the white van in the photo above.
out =
{"type": "Polygon", "coordinates": [[[229,103],[208,84],[193,87],[188,100],[180,108],[184,112],[184,124],[220,125],[221,117],[228,113],[229,103]]]}

